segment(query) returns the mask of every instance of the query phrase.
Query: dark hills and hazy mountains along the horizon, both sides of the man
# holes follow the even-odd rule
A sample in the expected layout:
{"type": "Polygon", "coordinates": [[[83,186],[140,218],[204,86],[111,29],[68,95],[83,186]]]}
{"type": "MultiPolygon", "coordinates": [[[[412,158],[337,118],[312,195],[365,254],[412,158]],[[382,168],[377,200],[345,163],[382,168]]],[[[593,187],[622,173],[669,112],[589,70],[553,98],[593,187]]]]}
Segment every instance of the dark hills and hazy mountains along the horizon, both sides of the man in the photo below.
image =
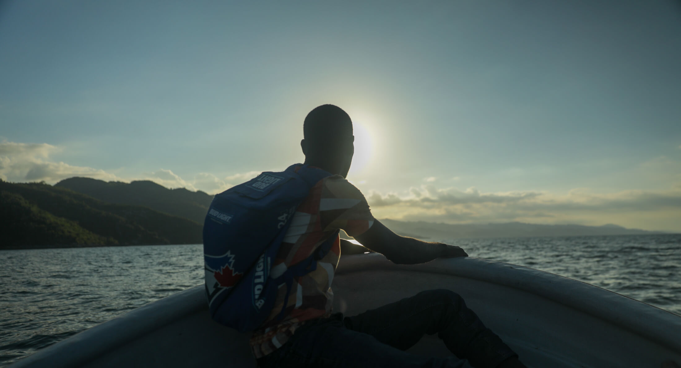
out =
{"type": "MultiPolygon", "coordinates": [[[[151,181],[65,179],[54,186],[0,180],[0,249],[135,244],[200,244],[212,196],[151,181]]],[[[424,240],[654,234],[618,225],[459,224],[381,219],[424,240]]],[[[347,236],[344,236],[347,238],[347,236]]]]}

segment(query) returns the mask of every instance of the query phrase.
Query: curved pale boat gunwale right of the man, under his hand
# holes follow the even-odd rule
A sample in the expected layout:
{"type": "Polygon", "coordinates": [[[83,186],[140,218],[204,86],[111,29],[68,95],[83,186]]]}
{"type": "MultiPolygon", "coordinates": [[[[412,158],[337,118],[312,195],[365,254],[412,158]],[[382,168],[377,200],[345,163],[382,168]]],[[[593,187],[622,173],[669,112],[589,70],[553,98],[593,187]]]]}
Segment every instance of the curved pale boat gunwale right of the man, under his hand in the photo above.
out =
{"type": "Polygon", "coordinates": [[[681,336],[681,316],[588,282],[522,265],[476,257],[441,258],[415,265],[396,265],[378,253],[359,256],[363,257],[353,259],[352,262],[347,262],[349,257],[357,255],[347,256],[346,262],[338,265],[336,275],[362,271],[409,270],[500,284],[605,320],[681,354],[681,339],[678,338],[681,336]]]}

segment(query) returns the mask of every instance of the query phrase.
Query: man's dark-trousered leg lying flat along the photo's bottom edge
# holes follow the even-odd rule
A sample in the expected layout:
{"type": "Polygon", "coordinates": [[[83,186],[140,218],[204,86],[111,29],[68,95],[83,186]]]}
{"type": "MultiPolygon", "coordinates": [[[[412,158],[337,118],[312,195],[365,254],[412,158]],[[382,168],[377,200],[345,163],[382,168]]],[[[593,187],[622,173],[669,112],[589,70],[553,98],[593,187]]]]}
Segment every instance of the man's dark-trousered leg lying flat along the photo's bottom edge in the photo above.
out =
{"type": "Polygon", "coordinates": [[[281,348],[260,358],[258,365],[261,368],[461,368],[464,361],[454,356],[432,358],[409,354],[371,335],[347,329],[340,318],[332,317],[302,327],[281,348]]]}

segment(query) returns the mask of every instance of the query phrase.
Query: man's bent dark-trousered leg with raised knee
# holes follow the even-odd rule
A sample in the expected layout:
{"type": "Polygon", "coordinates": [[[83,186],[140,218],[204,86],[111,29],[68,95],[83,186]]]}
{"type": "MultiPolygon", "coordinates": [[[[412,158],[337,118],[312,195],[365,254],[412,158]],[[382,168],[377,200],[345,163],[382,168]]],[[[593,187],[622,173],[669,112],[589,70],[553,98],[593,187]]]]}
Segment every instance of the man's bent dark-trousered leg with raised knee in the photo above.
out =
{"type": "Polygon", "coordinates": [[[485,327],[463,299],[453,291],[422,291],[381,308],[345,318],[345,326],[368,333],[379,342],[407,350],[428,333],[437,333],[445,346],[473,367],[494,368],[517,356],[485,327]]]}

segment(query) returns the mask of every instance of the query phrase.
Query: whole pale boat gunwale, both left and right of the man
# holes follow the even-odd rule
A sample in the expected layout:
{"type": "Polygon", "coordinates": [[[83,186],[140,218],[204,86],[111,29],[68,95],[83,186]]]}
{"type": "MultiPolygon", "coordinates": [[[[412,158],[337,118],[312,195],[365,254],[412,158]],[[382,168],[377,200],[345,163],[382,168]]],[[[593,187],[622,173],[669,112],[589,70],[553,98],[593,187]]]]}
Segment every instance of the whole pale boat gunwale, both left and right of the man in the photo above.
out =
{"type": "MultiPolygon", "coordinates": [[[[681,335],[681,316],[586,282],[521,265],[475,257],[396,265],[383,255],[370,253],[343,256],[336,275],[381,270],[448,274],[519,289],[605,320],[681,354],[681,339],[674,338],[681,335]],[[607,305],[617,308],[606,308],[607,305]],[[646,320],[648,323],[644,323],[646,320]]],[[[178,320],[178,316],[188,316],[202,310],[207,313],[204,293],[204,285],[197,285],[153,301],[38,350],[9,367],[39,367],[47,364],[57,368],[84,365],[104,352],[178,320]],[[92,344],[91,339],[97,339],[97,344],[92,344]]]]}

